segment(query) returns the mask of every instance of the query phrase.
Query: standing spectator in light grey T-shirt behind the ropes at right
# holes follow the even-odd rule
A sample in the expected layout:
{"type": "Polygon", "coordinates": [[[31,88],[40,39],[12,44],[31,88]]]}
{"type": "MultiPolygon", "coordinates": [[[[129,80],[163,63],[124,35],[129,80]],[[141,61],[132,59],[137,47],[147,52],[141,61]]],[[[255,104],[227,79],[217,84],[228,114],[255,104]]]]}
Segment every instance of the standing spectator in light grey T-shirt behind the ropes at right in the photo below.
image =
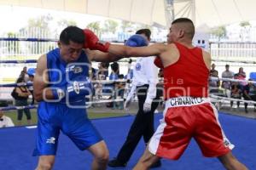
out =
{"type": "MultiPolygon", "coordinates": [[[[225,65],[225,71],[222,73],[222,78],[234,78],[234,72],[230,71],[230,65],[225,65]]],[[[222,88],[224,88],[224,95],[230,98],[231,96],[231,82],[230,81],[223,81],[222,88]]]]}

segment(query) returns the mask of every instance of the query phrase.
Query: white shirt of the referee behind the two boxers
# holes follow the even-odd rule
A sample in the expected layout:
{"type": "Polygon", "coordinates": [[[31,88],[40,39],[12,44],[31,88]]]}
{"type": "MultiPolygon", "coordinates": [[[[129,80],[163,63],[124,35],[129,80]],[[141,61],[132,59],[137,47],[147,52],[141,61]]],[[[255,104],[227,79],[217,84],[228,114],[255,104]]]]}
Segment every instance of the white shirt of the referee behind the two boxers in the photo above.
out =
{"type": "Polygon", "coordinates": [[[148,84],[148,94],[145,102],[152,102],[156,96],[158,83],[158,67],[154,65],[154,56],[139,57],[133,69],[132,88],[148,84]]]}

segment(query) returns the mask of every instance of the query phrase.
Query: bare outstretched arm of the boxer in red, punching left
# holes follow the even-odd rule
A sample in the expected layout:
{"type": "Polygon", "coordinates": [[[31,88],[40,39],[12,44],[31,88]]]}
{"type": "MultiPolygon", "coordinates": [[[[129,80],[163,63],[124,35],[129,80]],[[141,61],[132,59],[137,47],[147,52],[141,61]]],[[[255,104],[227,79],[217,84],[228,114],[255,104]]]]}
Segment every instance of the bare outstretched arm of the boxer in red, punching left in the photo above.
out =
{"type": "Polygon", "coordinates": [[[125,56],[125,57],[148,57],[152,55],[160,55],[166,51],[166,45],[163,43],[154,43],[146,47],[131,48],[124,45],[110,44],[108,48],[109,54],[125,56]]]}

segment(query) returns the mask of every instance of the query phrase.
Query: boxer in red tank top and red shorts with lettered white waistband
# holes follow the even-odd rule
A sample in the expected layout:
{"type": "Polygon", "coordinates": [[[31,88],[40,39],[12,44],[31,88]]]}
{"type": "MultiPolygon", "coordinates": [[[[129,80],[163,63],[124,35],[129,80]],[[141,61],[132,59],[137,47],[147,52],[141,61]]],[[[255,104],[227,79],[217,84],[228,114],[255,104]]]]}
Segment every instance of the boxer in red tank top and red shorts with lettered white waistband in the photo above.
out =
{"type": "Polygon", "coordinates": [[[233,156],[234,145],[225,137],[218,111],[208,98],[211,56],[192,45],[194,34],[193,22],[180,18],[172,22],[168,44],[131,48],[106,43],[104,47],[108,53],[119,56],[156,55],[154,63],[164,71],[164,117],[134,169],[148,169],[160,157],[177,160],[192,138],[203,156],[218,157],[226,169],[247,169],[233,156]]]}

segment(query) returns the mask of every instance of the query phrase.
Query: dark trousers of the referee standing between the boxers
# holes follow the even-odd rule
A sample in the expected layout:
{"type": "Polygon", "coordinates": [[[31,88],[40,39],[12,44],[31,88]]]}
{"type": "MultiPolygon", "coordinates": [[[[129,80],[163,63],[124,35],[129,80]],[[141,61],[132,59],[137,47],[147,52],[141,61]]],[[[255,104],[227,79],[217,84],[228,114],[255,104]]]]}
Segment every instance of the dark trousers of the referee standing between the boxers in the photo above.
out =
{"type": "MultiPolygon", "coordinates": [[[[158,91],[158,90],[157,90],[158,91]]],[[[140,139],[143,137],[145,144],[154,134],[154,111],[159,105],[160,93],[157,92],[156,97],[151,105],[151,111],[143,112],[143,104],[147,98],[148,85],[137,87],[138,111],[135,120],[132,122],[130,131],[126,137],[125,144],[119,150],[117,160],[122,163],[129,161],[133,151],[140,139]]]]}

